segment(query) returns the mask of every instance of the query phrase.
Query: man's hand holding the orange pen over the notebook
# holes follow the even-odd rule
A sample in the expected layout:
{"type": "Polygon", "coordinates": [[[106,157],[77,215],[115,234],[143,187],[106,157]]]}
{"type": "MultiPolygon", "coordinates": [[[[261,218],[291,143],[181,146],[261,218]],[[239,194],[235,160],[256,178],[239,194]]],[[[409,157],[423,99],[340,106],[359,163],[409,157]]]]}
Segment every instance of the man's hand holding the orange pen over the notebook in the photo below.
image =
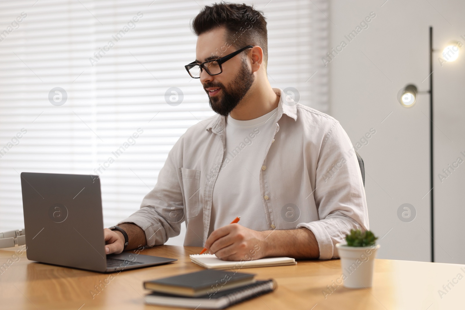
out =
{"type": "Polygon", "coordinates": [[[259,259],[266,256],[266,232],[229,224],[213,231],[206,239],[205,247],[210,254],[223,260],[259,259]]]}

